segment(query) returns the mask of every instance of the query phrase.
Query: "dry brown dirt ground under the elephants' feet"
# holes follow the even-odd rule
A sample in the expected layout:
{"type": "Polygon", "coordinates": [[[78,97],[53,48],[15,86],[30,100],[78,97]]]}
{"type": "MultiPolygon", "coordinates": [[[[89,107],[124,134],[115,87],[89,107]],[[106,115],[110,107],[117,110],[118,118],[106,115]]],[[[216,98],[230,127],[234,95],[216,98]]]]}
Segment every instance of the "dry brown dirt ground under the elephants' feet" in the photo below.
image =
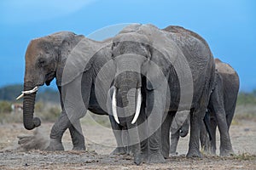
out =
{"type": "MultiPolygon", "coordinates": [[[[86,117],[85,117],[86,118],[86,117]]],[[[83,121],[82,121],[83,122],[83,121]]],[[[52,123],[38,127],[40,141],[47,141],[52,123]]],[[[230,127],[236,156],[186,158],[189,136],[180,140],[178,156],[163,164],[133,164],[131,156],[110,156],[115,146],[113,133],[96,122],[83,123],[86,151],[73,151],[69,133],[63,137],[66,151],[20,150],[17,136],[34,133],[21,123],[0,125],[0,169],[256,169],[256,122],[241,121],[230,127]]],[[[219,144],[219,136],[218,136],[219,144]]]]}

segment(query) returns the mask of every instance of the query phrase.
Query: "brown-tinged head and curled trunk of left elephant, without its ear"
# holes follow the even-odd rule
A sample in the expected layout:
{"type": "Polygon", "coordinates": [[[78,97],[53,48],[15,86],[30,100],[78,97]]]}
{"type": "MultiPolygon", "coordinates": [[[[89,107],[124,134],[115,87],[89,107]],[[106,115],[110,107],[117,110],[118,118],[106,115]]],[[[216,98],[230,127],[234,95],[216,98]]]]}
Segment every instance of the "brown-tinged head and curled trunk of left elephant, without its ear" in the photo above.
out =
{"type": "Polygon", "coordinates": [[[61,85],[61,74],[67,55],[83,38],[73,32],[57,32],[47,37],[33,39],[26,49],[26,69],[24,77],[23,122],[26,129],[40,126],[38,117],[33,117],[36,92],[39,86],[56,77],[61,85]]]}

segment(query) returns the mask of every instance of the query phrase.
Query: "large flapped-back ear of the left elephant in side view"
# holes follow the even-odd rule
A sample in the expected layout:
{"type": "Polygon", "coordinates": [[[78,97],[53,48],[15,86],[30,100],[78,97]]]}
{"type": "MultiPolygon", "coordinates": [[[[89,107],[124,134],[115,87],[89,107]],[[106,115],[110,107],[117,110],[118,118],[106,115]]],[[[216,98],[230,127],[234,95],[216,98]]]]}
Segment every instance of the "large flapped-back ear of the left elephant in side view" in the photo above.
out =
{"type": "Polygon", "coordinates": [[[86,37],[74,37],[73,41],[62,42],[61,62],[57,71],[58,86],[64,86],[84,71],[89,71],[94,56],[101,48],[101,42],[86,37]]]}

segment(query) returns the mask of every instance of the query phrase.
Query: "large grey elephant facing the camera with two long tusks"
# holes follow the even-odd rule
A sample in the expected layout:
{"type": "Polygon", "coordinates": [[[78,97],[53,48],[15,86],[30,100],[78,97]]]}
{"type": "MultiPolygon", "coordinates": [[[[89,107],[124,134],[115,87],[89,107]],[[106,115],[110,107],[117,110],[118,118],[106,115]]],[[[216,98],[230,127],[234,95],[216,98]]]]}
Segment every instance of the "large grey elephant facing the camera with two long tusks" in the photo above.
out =
{"type": "Polygon", "coordinates": [[[207,43],[182,27],[162,31],[152,25],[132,25],[113,37],[112,59],[113,119],[117,127],[127,127],[135,159],[140,160],[141,147],[146,161],[165,161],[177,111],[190,111],[187,156],[201,156],[200,127],[215,71],[207,43]]]}

